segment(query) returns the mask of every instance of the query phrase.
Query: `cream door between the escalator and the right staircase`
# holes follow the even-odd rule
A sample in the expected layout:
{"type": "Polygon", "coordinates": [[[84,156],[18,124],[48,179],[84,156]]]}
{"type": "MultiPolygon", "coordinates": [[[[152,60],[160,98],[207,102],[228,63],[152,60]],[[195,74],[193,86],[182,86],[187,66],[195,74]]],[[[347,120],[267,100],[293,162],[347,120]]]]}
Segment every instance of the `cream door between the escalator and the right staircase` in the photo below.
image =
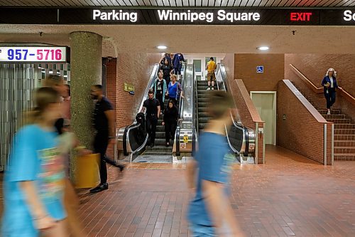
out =
{"type": "Polygon", "coordinates": [[[276,93],[251,91],[251,100],[265,122],[265,144],[276,144],[276,93]]]}

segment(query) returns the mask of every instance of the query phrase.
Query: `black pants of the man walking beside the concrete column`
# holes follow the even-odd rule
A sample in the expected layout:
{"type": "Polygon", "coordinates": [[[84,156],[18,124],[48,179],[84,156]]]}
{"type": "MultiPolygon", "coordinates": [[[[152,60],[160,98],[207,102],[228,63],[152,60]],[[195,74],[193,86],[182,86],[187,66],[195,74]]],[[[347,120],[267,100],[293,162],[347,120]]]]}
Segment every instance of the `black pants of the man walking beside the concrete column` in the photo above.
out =
{"type": "Polygon", "coordinates": [[[107,146],[109,145],[109,131],[99,131],[94,138],[94,152],[100,154],[100,184],[107,183],[106,163],[115,165],[114,161],[106,156],[107,146]]]}

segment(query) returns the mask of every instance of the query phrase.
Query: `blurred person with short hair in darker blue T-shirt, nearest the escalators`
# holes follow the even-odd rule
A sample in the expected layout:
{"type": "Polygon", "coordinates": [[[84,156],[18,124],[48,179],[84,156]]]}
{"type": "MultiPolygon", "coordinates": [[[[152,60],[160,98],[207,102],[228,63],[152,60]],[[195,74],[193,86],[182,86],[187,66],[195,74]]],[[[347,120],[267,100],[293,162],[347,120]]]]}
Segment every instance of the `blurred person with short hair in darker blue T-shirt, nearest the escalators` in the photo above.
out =
{"type": "Polygon", "coordinates": [[[228,197],[229,174],[235,158],[229,150],[224,126],[231,125],[233,105],[228,93],[209,93],[211,119],[199,136],[195,159],[187,164],[187,181],[195,194],[187,212],[192,237],[244,236],[228,197]]]}

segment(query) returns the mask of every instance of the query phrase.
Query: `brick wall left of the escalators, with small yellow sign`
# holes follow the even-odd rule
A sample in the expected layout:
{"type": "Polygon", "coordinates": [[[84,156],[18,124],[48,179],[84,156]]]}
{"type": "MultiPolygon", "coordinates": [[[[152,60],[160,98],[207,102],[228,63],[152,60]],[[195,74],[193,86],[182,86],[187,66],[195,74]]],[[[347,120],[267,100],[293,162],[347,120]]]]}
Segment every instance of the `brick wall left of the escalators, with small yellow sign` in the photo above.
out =
{"type": "MultiPolygon", "coordinates": [[[[160,53],[121,53],[107,65],[107,98],[114,104],[116,128],[131,125],[141,105],[153,66],[160,60],[160,53]],[[134,86],[135,94],[124,91],[124,83],[134,86]]],[[[113,145],[107,154],[113,157],[113,145]]]]}

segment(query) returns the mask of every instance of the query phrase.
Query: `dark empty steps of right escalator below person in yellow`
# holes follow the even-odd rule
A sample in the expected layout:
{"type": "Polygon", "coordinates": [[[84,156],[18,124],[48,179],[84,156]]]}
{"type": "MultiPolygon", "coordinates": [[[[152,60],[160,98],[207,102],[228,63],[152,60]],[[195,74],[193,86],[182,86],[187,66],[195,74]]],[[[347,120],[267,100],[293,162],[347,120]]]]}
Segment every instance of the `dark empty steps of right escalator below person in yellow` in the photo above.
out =
{"type": "MultiPolygon", "coordinates": [[[[197,112],[199,118],[199,132],[204,129],[209,120],[207,114],[207,93],[209,90],[207,90],[207,85],[207,80],[197,80],[197,112]]],[[[216,85],[214,85],[214,90],[216,90],[216,85]]]]}

